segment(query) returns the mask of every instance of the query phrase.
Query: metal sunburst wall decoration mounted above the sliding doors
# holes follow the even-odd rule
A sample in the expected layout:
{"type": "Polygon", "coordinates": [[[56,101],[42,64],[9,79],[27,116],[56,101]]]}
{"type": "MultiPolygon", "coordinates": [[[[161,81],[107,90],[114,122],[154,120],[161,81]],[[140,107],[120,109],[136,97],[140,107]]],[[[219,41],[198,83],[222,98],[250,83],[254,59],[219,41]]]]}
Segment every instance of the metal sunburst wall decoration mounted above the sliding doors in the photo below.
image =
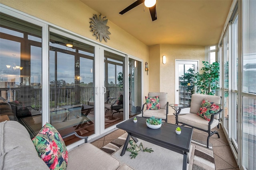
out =
{"type": "Polygon", "coordinates": [[[108,34],[111,34],[108,29],[109,26],[107,25],[108,19],[106,19],[106,16],[101,18],[101,14],[98,18],[97,14],[94,14],[92,18],[90,18],[90,28],[91,32],[94,32],[93,36],[96,36],[96,40],[100,38],[100,42],[102,41],[102,38],[104,38],[105,42],[107,42],[107,39],[110,40],[108,34]]]}

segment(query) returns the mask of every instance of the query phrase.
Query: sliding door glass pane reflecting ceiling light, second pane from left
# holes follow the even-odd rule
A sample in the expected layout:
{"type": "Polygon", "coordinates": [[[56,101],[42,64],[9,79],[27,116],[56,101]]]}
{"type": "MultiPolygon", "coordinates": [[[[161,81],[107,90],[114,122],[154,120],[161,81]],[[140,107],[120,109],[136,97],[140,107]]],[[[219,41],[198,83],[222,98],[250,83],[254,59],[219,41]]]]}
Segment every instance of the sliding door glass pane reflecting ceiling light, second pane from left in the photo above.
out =
{"type": "Polygon", "coordinates": [[[61,135],[90,136],[95,133],[94,46],[50,32],[49,47],[50,123],[61,135]]]}

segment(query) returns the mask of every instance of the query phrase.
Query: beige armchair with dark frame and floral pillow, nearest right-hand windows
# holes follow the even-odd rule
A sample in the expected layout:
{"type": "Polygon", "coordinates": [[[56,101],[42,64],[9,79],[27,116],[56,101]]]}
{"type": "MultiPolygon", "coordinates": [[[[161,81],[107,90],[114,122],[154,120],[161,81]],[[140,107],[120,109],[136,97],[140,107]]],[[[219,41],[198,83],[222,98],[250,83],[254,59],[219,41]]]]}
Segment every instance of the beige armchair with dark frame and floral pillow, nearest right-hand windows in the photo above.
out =
{"type": "MultiPolygon", "coordinates": [[[[204,132],[208,132],[207,137],[207,148],[209,148],[209,139],[213,134],[217,134],[218,138],[220,135],[218,131],[211,131],[212,128],[219,128],[220,113],[223,109],[220,109],[221,97],[213,95],[202,95],[202,94],[192,94],[190,113],[185,115],[176,115],[176,124],[186,125],[204,132]]],[[[186,108],[183,107],[183,108],[186,108]]],[[[182,108],[182,109],[183,109],[182,108]]]]}

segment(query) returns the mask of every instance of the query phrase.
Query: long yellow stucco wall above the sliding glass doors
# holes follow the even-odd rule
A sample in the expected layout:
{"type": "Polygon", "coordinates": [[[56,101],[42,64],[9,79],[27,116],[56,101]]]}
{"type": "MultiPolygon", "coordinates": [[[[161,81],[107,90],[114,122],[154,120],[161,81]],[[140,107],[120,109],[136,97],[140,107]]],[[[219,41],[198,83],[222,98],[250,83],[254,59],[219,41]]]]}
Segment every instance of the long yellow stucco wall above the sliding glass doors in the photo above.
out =
{"type": "MultiPolygon", "coordinates": [[[[93,14],[98,14],[80,1],[72,0],[1,0],[1,3],[16,10],[30,14],[36,18],[50,22],[61,28],[65,28],[76,34],[80,34],[93,41],[96,40],[90,32],[90,19],[93,14]]],[[[99,14],[98,14],[99,15],[99,14]]],[[[104,16],[104,14],[102,14],[104,16]]],[[[108,45],[114,49],[138,57],[145,61],[149,59],[148,46],[140,42],[116,24],[108,20],[107,26],[110,27],[110,40],[106,43],[102,40],[101,44],[108,45]]],[[[144,95],[148,93],[148,75],[144,74],[144,95]]]]}

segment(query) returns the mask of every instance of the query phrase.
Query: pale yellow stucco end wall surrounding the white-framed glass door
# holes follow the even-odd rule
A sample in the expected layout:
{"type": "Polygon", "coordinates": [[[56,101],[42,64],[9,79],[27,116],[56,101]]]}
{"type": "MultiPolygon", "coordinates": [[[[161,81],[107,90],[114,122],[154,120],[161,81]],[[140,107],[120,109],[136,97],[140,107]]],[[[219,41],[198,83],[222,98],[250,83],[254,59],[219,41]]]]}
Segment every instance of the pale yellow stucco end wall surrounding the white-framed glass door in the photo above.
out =
{"type": "Polygon", "coordinates": [[[200,70],[204,61],[204,46],[161,44],[150,46],[149,51],[150,65],[154,65],[154,69],[149,71],[149,90],[166,92],[169,103],[175,103],[175,59],[199,60],[200,70]],[[163,55],[166,55],[166,64],[162,63],[163,55]],[[154,81],[158,77],[159,81],[154,81]]]}

